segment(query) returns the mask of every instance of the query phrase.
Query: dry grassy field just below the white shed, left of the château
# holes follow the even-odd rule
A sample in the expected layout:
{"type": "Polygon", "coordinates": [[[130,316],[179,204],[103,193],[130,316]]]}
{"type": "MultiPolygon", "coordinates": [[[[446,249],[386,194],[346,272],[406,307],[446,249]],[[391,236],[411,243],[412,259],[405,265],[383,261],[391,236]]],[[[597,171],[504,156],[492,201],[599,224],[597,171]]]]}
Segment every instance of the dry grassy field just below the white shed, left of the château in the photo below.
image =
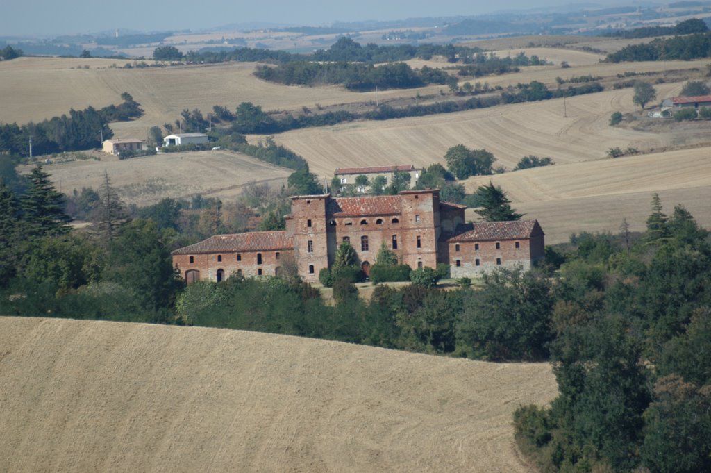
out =
{"type": "MultiPolygon", "coordinates": [[[[105,172],[126,203],[146,206],[162,198],[230,198],[242,193],[249,182],[279,188],[291,169],[272,166],[245,154],[229,151],[166,153],[119,160],[101,154],[102,160],[87,159],[44,166],[55,186],[69,194],[82,187],[99,188],[105,172]]],[[[22,172],[31,166],[23,166],[22,172]]]]}

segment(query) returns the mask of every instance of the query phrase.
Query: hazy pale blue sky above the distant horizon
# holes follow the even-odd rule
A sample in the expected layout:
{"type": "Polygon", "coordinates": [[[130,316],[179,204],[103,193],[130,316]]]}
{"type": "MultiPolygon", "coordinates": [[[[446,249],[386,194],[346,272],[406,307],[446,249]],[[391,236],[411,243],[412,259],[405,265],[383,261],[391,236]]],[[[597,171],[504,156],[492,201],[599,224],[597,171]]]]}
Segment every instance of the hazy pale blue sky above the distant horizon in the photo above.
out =
{"type": "MultiPolygon", "coordinates": [[[[538,5],[571,3],[540,0],[538,5]]],[[[3,0],[2,5],[0,36],[95,33],[114,28],[199,30],[251,21],[315,25],[333,21],[471,15],[533,6],[525,0],[3,0]]]]}

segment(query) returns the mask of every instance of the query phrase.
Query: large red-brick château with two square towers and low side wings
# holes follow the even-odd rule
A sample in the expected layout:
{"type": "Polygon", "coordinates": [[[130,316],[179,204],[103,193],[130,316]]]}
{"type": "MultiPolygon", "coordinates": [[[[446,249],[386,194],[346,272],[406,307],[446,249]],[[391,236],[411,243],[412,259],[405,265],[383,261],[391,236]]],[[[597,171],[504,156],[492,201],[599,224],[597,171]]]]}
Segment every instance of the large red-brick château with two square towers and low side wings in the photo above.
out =
{"type": "Polygon", "coordinates": [[[173,267],[187,282],[222,281],[232,274],[278,276],[285,258],[304,280],[316,282],[348,242],[366,275],[383,243],[412,268],[451,265],[452,277],[498,267],[525,269],[543,257],[538,221],[464,223],[465,206],[439,200],[439,190],[396,196],[292,197],[287,229],[215,235],[173,251],[173,267]]]}

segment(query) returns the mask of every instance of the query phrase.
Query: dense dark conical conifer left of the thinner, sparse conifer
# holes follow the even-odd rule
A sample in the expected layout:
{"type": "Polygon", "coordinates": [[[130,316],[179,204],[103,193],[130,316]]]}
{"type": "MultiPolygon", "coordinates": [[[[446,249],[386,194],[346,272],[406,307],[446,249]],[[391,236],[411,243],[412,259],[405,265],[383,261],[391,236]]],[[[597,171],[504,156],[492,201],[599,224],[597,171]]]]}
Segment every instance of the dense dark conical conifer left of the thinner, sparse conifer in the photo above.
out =
{"type": "Polygon", "coordinates": [[[27,191],[21,200],[23,220],[38,236],[68,233],[70,216],[64,213],[64,194],[54,188],[49,174],[37,166],[30,173],[27,191]]]}

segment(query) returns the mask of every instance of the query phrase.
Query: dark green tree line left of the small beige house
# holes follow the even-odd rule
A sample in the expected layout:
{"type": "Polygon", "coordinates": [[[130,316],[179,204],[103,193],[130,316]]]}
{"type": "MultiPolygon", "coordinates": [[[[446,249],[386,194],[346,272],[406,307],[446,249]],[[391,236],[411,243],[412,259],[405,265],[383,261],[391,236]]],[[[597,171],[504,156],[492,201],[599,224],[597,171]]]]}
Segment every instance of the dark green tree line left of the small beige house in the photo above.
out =
{"type": "Polygon", "coordinates": [[[51,154],[101,147],[102,138],[114,136],[109,122],[131,120],[143,113],[133,97],[124,92],[123,102],[100,110],[87,107],[70,110],[69,115],[53,117],[43,122],[18,125],[0,124],[0,153],[29,156],[29,140],[33,154],[51,154]]]}

